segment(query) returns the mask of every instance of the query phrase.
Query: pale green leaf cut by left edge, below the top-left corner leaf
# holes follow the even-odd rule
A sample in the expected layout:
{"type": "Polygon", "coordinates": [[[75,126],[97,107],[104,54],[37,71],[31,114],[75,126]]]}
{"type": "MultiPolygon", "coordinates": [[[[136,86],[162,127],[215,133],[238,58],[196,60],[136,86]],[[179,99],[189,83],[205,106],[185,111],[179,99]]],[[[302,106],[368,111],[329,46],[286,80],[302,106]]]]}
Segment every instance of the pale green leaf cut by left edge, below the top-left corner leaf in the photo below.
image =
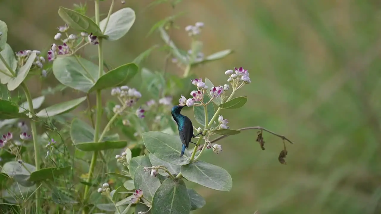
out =
{"type": "MultiPolygon", "coordinates": [[[[0,37],[1,38],[1,37],[0,37]]],[[[9,67],[13,70],[13,71],[16,71],[16,68],[17,68],[17,61],[16,61],[16,58],[14,57],[14,52],[11,48],[10,45],[8,44],[5,44],[3,50],[0,52],[0,54],[3,56],[3,58],[5,59],[5,62],[6,64],[9,65],[9,67]]],[[[11,76],[13,76],[11,74],[11,72],[9,72],[8,68],[6,67],[6,65],[3,63],[3,61],[0,60],[0,70],[2,72],[5,72],[11,76]]],[[[5,75],[4,73],[0,72],[0,84],[6,84],[8,83],[8,81],[11,79],[11,77],[5,75]]]]}

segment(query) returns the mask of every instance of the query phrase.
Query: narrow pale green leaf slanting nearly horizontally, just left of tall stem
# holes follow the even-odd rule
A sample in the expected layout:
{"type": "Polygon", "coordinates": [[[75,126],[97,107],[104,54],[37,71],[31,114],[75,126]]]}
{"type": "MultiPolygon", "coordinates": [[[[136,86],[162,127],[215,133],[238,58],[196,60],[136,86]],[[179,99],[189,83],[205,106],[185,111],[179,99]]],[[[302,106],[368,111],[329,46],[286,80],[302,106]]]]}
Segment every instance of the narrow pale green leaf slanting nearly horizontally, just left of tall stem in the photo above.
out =
{"type": "Polygon", "coordinates": [[[75,109],[79,104],[81,104],[83,101],[85,101],[85,97],[80,97],[74,100],[61,102],[59,104],[54,104],[46,109],[42,109],[40,112],[37,113],[38,117],[53,117],[54,115],[59,115],[62,113],[70,112],[71,110],[75,109]]]}

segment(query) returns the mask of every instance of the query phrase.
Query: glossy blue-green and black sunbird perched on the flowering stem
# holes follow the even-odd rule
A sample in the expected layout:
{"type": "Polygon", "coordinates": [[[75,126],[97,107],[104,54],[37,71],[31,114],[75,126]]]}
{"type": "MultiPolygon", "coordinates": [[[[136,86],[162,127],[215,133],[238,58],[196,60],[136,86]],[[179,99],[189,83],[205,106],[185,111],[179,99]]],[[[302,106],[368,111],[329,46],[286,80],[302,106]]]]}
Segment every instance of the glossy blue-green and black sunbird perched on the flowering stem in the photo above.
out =
{"type": "Polygon", "coordinates": [[[177,123],[177,128],[179,129],[179,136],[182,142],[180,157],[184,155],[185,148],[189,147],[189,142],[195,144],[191,141],[192,138],[197,137],[199,134],[202,134],[202,132],[197,134],[196,136],[193,134],[192,121],[187,116],[181,114],[182,108],[184,108],[184,106],[175,105],[172,107],[171,110],[173,120],[177,123]]]}

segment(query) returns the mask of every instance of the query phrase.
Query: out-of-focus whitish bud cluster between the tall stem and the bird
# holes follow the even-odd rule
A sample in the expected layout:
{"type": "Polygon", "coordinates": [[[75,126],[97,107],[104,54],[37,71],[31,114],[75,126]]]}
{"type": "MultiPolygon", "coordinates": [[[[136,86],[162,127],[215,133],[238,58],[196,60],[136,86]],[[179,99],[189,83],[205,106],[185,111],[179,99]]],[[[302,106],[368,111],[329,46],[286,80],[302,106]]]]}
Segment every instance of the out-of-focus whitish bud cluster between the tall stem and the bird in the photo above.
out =
{"type": "MultiPolygon", "coordinates": [[[[115,105],[114,109],[112,110],[114,113],[118,113],[120,115],[123,114],[123,110],[126,107],[133,106],[142,97],[142,94],[138,90],[135,88],[129,88],[126,85],[111,89],[111,95],[117,96],[123,105],[115,105]]],[[[144,118],[145,111],[146,110],[144,110],[142,107],[139,107],[135,113],[139,118],[144,118]]]]}

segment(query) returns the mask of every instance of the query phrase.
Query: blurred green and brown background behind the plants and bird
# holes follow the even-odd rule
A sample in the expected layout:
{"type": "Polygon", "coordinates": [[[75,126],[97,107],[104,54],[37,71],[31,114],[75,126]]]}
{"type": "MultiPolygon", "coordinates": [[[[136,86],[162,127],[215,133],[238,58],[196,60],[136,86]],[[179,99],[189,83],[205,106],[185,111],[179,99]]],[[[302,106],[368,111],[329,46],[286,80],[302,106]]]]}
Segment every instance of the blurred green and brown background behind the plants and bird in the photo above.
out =
{"type": "MultiPolygon", "coordinates": [[[[49,48],[56,27],[64,24],[59,6],[80,2],[85,0],[2,0],[8,43],[14,51],[49,48]]],[[[168,4],[147,8],[151,2],[115,2],[115,10],[133,8],[136,21],[121,40],[105,42],[106,62],[116,67],[162,44],[157,32],[146,38],[151,26],[185,12],[172,34],[179,48],[190,49],[184,27],[202,21],[205,55],[235,51],[192,72],[215,85],[225,84],[224,71],[233,67],[250,72],[251,84],[238,93],[248,96],[247,104],[223,112],[231,128],[260,125],[295,142],[287,144],[287,165],[282,165],[277,160],[282,140],[275,136],[264,134],[264,151],[255,131],[220,141],[223,152],[208,150],[202,159],[229,171],[233,188],[219,192],[188,184],[207,201],[194,213],[381,213],[380,1],[183,0],[174,11],[168,4]]],[[[93,2],[87,4],[93,15],[93,2]]],[[[101,2],[101,13],[108,7],[109,1],[101,2]]],[[[85,54],[93,56],[96,48],[86,48],[85,54]]],[[[164,58],[154,51],[145,67],[160,70],[164,58]]],[[[182,73],[173,64],[169,72],[182,73]]],[[[53,75],[42,85],[29,81],[34,97],[56,83],[53,75]]],[[[138,82],[131,85],[139,89],[138,82]]],[[[47,97],[44,105],[78,96],[47,97]]]]}

